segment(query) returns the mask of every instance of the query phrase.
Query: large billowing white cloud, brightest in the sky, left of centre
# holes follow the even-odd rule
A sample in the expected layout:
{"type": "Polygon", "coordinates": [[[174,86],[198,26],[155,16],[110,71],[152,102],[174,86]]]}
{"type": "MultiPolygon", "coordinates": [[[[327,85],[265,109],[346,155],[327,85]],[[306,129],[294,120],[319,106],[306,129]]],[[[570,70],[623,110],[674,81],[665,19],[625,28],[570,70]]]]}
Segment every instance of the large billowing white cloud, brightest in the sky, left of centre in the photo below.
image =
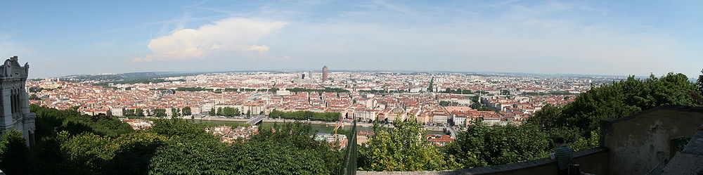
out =
{"type": "Polygon", "coordinates": [[[278,32],[288,22],[228,18],[196,29],[176,30],[152,39],[148,47],[153,54],[134,58],[134,62],[153,60],[190,60],[213,53],[265,54],[269,46],[257,45],[259,39],[278,32]]]}

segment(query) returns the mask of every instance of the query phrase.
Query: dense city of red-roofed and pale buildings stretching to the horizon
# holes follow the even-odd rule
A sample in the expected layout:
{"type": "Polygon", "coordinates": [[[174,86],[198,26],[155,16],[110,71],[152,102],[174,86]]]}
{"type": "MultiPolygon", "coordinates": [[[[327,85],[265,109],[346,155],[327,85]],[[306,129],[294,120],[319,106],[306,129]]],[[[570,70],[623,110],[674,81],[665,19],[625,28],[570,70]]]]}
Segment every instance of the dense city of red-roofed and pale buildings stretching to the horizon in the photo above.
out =
{"type": "Polygon", "coordinates": [[[170,116],[171,108],[184,107],[190,107],[192,114],[207,114],[212,108],[231,107],[241,114],[340,112],[363,122],[414,115],[425,124],[448,126],[453,121],[460,126],[465,119],[455,117],[476,119],[477,109],[448,106],[479,102],[503,124],[520,122],[544,105],[564,105],[591,86],[621,79],[399,72],[331,72],[329,80],[321,77],[314,72],[231,72],[108,86],[62,77],[35,79],[27,87],[32,104],[60,110],[77,106],[87,115],[122,116],[124,109],[141,108],[167,109],[170,116]],[[395,108],[402,114],[393,112],[395,108]]]}

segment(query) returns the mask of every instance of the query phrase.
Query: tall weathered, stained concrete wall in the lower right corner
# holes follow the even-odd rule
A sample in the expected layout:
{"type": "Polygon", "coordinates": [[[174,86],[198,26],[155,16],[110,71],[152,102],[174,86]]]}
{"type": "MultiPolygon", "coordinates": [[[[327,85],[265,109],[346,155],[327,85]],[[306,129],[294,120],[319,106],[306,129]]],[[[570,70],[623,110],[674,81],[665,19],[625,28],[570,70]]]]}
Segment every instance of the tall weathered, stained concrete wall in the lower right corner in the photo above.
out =
{"type": "Polygon", "coordinates": [[[622,119],[604,119],[601,146],[610,149],[610,174],[646,174],[669,160],[671,140],[690,138],[703,123],[703,108],[666,105],[622,119]]]}

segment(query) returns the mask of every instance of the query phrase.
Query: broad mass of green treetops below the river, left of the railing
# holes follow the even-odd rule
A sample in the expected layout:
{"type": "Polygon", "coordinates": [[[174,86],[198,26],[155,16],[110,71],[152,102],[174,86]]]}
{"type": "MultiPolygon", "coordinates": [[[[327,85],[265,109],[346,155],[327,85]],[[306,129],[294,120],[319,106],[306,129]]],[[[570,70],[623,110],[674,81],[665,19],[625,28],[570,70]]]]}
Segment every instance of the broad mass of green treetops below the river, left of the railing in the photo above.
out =
{"type": "Polygon", "coordinates": [[[313,134],[308,124],[286,124],[233,145],[176,136],[157,150],[150,174],[333,174],[339,153],[313,134]]]}

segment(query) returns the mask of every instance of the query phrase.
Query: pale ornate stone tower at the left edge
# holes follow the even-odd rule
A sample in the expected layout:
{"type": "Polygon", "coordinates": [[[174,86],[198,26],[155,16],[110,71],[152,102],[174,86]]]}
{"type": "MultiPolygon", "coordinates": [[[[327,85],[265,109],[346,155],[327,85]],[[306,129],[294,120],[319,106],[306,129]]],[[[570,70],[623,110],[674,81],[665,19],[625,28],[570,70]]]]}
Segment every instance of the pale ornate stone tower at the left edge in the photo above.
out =
{"type": "Polygon", "coordinates": [[[0,68],[0,134],[8,129],[22,131],[28,146],[34,145],[34,119],[25,83],[30,65],[20,66],[17,56],[5,60],[0,68]]]}

